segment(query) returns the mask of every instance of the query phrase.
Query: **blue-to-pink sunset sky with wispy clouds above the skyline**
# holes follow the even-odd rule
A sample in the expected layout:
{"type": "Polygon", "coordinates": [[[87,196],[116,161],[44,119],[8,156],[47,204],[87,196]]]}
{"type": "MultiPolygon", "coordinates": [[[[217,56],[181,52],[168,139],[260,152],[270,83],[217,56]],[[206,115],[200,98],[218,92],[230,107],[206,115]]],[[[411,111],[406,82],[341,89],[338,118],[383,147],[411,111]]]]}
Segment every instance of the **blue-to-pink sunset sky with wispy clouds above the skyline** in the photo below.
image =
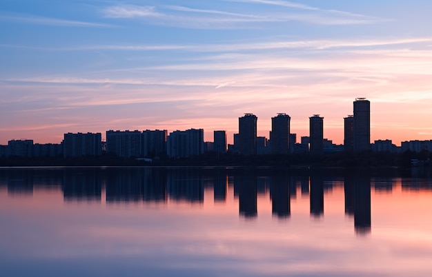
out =
{"type": "Polygon", "coordinates": [[[343,143],[353,101],[371,142],[432,139],[432,1],[0,1],[0,144],[67,132],[226,130],[291,116],[343,143]]]}

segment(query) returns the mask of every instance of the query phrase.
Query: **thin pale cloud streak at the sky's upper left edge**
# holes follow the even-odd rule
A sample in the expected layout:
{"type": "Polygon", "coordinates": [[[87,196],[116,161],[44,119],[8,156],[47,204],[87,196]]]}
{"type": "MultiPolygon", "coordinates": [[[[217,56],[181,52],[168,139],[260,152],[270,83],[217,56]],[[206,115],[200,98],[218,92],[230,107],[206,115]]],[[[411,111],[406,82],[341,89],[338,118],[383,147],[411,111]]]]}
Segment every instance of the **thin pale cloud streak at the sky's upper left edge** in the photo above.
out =
{"type": "Polygon", "coordinates": [[[38,17],[30,14],[13,14],[13,15],[0,14],[0,21],[12,21],[18,23],[31,23],[31,24],[38,24],[38,25],[53,25],[53,26],[65,26],[65,27],[94,27],[94,28],[115,27],[115,25],[106,24],[106,23],[57,19],[52,17],[38,17]]]}

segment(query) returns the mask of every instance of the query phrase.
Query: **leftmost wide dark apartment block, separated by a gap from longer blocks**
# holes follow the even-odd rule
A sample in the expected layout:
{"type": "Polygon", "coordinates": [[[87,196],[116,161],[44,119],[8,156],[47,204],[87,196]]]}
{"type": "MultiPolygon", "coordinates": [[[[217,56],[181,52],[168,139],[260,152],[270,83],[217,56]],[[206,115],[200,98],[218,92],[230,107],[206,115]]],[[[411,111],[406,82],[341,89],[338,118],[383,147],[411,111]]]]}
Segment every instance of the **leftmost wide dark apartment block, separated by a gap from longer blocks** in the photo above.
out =
{"type": "Polygon", "coordinates": [[[100,156],[102,154],[101,133],[64,134],[63,156],[100,156]]]}

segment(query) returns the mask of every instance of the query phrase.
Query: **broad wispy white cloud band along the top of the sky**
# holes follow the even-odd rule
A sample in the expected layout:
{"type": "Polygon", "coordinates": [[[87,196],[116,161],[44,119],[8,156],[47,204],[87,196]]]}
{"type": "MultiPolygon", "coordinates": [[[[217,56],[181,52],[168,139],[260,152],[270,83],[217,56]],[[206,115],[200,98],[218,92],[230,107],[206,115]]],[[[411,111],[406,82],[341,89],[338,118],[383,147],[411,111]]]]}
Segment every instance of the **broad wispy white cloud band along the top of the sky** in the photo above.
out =
{"type": "MultiPolygon", "coordinates": [[[[237,1],[237,0],[227,0],[237,1]]],[[[300,21],[318,25],[370,24],[387,19],[354,14],[339,10],[322,10],[288,1],[273,0],[239,0],[237,2],[252,5],[279,6],[280,10],[247,9],[216,10],[207,8],[190,8],[186,6],[135,6],[117,5],[104,8],[102,11],[110,18],[140,18],[148,23],[171,25],[181,28],[217,29],[217,28],[258,28],[255,23],[281,23],[300,21]],[[301,12],[298,12],[298,11],[301,12]]],[[[260,25],[259,28],[263,28],[260,25]]]]}

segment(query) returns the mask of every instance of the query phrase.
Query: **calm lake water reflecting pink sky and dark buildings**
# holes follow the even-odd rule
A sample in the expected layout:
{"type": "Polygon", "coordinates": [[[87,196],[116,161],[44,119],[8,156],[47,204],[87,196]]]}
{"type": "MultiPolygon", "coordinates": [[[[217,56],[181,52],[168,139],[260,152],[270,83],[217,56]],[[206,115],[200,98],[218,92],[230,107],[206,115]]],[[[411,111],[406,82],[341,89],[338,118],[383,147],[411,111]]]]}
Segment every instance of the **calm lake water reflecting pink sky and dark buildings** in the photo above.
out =
{"type": "Polygon", "coordinates": [[[1,276],[431,276],[429,172],[0,169],[1,276]]]}

